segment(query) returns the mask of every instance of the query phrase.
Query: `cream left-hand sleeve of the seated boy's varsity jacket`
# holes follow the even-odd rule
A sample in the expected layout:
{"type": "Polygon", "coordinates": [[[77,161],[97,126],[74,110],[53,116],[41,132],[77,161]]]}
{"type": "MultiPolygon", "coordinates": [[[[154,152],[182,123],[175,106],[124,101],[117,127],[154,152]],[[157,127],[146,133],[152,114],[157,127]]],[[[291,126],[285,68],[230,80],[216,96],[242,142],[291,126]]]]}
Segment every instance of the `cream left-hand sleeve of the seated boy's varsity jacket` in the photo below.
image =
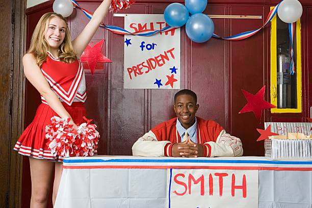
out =
{"type": "Polygon", "coordinates": [[[169,141],[158,141],[152,131],[146,133],[132,146],[134,156],[165,156],[164,148],[169,141]]]}

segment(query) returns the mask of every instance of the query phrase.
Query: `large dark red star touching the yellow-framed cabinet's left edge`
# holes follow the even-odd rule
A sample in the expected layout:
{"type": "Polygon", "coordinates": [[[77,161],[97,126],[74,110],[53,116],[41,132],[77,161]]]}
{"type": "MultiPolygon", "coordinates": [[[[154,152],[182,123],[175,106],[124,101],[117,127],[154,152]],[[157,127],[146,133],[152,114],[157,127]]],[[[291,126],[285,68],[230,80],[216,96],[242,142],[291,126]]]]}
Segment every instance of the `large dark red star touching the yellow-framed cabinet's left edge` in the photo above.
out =
{"type": "Polygon", "coordinates": [[[255,117],[260,122],[262,110],[276,108],[276,106],[264,100],[265,90],[266,90],[266,86],[263,86],[263,88],[261,88],[261,90],[259,90],[255,95],[245,90],[242,90],[248,103],[246,104],[246,106],[244,106],[244,108],[242,108],[242,110],[239,113],[246,113],[246,112],[253,111],[255,117]]]}

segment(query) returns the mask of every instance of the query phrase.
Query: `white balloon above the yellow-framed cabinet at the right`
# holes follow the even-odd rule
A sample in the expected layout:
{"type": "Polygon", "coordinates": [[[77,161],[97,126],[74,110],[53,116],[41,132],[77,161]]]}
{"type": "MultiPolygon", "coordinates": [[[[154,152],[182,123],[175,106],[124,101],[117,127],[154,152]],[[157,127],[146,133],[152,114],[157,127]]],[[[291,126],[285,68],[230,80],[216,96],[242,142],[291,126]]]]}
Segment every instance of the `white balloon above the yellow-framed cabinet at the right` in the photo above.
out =
{"type": "Polygon", "coordinates": [[[302,15],[302,5],[298,0],[284,0],[277,9],[280,20],[286,23],[297,21],[302,15]]]}

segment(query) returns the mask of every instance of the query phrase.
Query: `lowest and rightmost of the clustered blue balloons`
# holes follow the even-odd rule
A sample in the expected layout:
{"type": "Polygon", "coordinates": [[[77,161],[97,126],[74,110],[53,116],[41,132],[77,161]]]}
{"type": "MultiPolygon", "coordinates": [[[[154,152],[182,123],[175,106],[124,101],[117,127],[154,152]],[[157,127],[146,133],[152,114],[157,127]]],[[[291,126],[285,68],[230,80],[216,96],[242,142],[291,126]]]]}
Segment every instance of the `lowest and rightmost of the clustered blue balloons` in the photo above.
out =
{"type": "Polygon", "coordinates": [[[189,38],[197,43],[209,40],[215,30],[214,22],[206,14],[192,15],[185,25],[185,31],[189,38]]]}

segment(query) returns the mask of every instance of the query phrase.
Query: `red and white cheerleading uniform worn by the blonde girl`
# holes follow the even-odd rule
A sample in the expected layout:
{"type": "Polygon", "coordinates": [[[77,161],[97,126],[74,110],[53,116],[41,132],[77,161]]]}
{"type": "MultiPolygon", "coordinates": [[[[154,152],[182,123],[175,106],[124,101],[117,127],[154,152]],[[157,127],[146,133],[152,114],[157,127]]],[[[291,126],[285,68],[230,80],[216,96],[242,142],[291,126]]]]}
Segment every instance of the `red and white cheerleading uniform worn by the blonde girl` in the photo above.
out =
{"type": "MultiPolygon", "coordinates": [[[[83,116],[86,116],[84,102],[87,94],[85,73],[80,60],[64,63],[54,58],[51,53],[47,54],[46,62],[41,66],[45,79],[62,101],[74,123],[83,123],[83,116]]],[[[33,158],[61,162],[61,157],[54,157],[51,154],[46,145],[47,139],[45,139],[45,126],[50,124],[51,117],[58,115],[48,106],[42,96],[41,101],[33,122],[21,134],[14,150],[33,158]]]]}

